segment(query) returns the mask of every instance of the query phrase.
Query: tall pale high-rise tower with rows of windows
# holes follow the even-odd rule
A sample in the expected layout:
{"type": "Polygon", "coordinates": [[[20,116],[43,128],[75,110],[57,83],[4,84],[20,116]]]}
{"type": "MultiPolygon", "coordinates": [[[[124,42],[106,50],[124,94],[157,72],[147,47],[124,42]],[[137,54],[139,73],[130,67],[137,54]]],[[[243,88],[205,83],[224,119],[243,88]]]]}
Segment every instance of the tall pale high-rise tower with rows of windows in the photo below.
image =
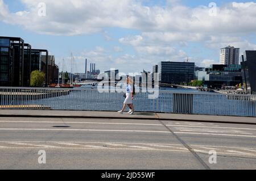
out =
{"type": "Polygon", "coordinates": [[[237,65],[239,64],[240,48],[225,47],[220,49],[220,64],[237,65]]]}

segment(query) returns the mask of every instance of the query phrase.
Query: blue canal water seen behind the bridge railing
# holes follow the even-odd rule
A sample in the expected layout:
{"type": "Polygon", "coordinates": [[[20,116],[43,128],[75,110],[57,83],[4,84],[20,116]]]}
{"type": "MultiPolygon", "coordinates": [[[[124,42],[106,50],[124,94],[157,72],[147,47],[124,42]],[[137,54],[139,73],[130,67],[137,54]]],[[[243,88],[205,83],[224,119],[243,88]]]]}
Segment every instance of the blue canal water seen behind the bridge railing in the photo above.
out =
{"type": "MultiPolygon", "coordinates": [[[[27,104],[49,106],[53,110],[118,111],[121,110],[124,99],[123,93],[100,93],[97,87],[86,86],[72,90],[69,95],[30,100],[27,104]]],[[[139,112],[230,116],[256,116],[255,104],[255,100],[230,99],[227,95],[193,89],[161,89],[157,99],[148,99],[148,93],[138,93],[134,100],[135,110],[139,112]],[[175,112],[174,94],[181,93],[193,94],[192,100],[189,100],[192,112],[175,112]]]]}

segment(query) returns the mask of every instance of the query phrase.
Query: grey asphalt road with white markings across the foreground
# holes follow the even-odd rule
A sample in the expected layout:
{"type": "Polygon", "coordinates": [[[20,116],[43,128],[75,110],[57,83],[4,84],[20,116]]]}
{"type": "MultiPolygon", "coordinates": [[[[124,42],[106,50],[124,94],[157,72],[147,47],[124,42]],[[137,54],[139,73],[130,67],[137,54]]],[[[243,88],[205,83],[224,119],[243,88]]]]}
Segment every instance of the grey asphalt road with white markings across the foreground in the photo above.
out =
{"type": "Polygon", "coordinates": [[[0,169],[256,169],[256,125],[0,117],[0,169]]]}

